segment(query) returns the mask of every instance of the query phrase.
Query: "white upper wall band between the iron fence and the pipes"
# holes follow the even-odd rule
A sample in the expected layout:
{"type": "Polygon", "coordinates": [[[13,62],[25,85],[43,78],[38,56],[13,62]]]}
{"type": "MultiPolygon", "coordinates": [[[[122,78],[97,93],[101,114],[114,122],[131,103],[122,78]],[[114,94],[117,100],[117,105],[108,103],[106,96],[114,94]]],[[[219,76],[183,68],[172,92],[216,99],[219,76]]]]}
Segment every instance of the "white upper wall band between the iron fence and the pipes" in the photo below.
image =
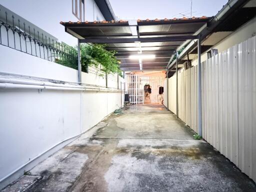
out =
{"type": "Polygon", "coordinates": [[[0,45],[0,72],[77,82],[77,70],[0,45]]]}

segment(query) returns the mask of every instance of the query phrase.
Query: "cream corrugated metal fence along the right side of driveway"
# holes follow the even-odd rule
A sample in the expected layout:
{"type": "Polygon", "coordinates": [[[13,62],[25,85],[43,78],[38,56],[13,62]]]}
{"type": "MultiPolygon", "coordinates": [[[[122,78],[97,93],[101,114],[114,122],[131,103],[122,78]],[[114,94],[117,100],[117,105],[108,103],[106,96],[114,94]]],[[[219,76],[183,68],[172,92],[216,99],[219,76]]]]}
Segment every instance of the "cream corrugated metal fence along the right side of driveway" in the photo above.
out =
{"type": "MultiPolygon", "coordinates": [[[[256,181],[256,36],[202,62],[202,136],[256,181]]],[[[168,79],[175,111],[176,76],[168,79]]],[[[178,116],[197,132],[197,66],[178,72],[178,116]]]]}

